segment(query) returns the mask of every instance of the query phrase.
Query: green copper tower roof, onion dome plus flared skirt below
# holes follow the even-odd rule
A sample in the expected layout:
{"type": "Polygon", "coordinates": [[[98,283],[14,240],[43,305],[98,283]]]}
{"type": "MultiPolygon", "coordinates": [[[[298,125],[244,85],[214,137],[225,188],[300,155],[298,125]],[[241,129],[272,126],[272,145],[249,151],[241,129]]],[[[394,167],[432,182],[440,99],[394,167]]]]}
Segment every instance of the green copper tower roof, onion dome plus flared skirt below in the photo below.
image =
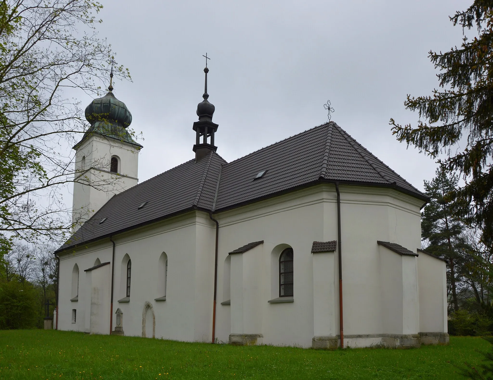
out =
{"type": "MultiPolygon", "coordinates": [[[[109,87],[110,90],[113,87],[109,87]]],[[[114,138],[119,141],[135,145],[138,149],[141,144],[135,142],[126,128],[132,123],[132,114],[125,103],[115,98],[109,91],[103,98],[94,99],[86,107],[86,119],[91,126],[82,139],[73,147],[77,149],[82,141],[91,135],[100,135],[106,138],[114,138]]]]}

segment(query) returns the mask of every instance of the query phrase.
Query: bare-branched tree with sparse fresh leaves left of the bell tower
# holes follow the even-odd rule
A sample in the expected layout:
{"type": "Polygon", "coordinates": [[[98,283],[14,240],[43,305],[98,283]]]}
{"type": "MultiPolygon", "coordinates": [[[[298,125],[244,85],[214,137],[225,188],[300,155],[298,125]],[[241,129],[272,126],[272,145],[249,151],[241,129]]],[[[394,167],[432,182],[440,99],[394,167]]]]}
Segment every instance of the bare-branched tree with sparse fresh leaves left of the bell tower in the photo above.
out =
{"type": "MultiPolygon", "coordinates": [[[[63,240],[70,208],[61,186],[73,181],[70,147],[86,129],[72,96],[101,95],[110,45],[97,38],[90,0],[0,0],[0,247],[12,239],[63,240]],[[41,201],[40,201],[41,200],[41,201]]],[[[119,66],[116,75],[130,78],[119,66]]],[[[93,162],[91,168],[109,163],[93,162]]],[[[90,170],[89,168],[88,170],[90,170]]],[[[98,179],[91,186],[106,184],[98,179]]]]}

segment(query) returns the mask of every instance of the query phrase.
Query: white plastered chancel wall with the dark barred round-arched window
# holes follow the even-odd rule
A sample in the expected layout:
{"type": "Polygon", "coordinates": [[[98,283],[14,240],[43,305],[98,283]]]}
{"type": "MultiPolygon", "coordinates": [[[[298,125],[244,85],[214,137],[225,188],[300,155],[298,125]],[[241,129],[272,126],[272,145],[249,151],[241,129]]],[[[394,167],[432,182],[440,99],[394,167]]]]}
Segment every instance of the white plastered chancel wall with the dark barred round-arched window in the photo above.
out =
{"type": "MultiPolygon", "coordinates": [[[[416,258],[403,260],[391,251],[381,254],[377,240],[409,249],[419,246],[422,201],[390,189],[341,185],[340,191],[345,336],[418,333],[416,258]],[[389,260],[382,269],[383,256],[389,260]],[[382,271],[391,289],[387,295],[382,294],[382,271]]],[[[306,347],[311,346],[313,336],[339,335],[337,252],[311,254],[312,242],[337,240],[334,186],[301,190],[218,213],[216,218],[220,225],[218,294],[223,293],[227,253],[264,240],[257,277],[263,289],[259,310],[262,329],[243,332],[263,334],[264,344],[306,347]],[[285,246],[294,250],[294,302],[269,304],[268,300],[278,297],[277,260],[285,246]],[[320,276],[322,268],[330,271],[330,276],[320,276]],[[316,283],[326,291],[317,293],[316,283]],[[317,303],[317,298],[322,301],[317,303]]],[[[245,261],[243,265],[245,272],[245,261]]],[[[233,261],[231,270],[233,277],[233,261]]],[[[234,303],[231,294],[231,306],[218,306],[216,332],[223,342],[228,341],[230,333],[236,333],[234,303]]],[[[245,325],[245,320],[242,323],[245,325]]]]}

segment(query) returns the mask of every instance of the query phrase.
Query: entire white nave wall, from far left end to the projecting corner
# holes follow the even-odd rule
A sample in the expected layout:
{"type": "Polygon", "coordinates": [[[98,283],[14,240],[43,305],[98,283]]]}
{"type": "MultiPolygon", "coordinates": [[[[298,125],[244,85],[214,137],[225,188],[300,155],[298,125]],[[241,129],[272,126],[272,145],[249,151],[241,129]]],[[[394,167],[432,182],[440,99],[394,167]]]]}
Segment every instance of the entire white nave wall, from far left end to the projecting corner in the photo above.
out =
{"type": "MultiPolygon", "coordinates": [[[[149,302],[156,318],[156,338],[210,342],[212,339],[212,304],[214,279],[215,225],[209,215],[193,211],[161,223],[113,236],[115,242],[113,327],[115,312],[123,311],[123,330],[127,336],[141,336],[142,311],[149,302]],[[166,301],[158,290],[159,258],[168,256],[166,301]],[[126,270],[122,270],[125,255],[132,260],[130,302],[118,300],[126,296],[126,270]]],[[[61,255],[59,329],[90,331],[91,272],[80,276],[79,301],[70,303],[71,272],[75,262],[79,268],[90,268],[97,257],[101,262],[111,261],[112,244],[108,239],[76,249],[75,253],[61,255]],[[70,267],[70,276],[67,268],[70,267]],[[67,276],[65,275],[67,274],[67,276]],[[84,280],[82,281],[82,277],[84,280]],[[68,291],[66,290],[68,289],[68,291]],[[77,328],[70,323],[70,312],[77,304],[77,328]],[[84,322],[85,319],[85,322],[84,322]]],[[[125,262],[126,265],[126,262],[125,262]]],[[[108,265],[107,267],[110,267],[108,265]]],[[[106,267],[103,267],[106,268],[106,267]]],[[[126,267],[125,267],[126,269],[126,267]]],[[[108,276],[110,278],[110,276],[108,276]]],[[[109,301],[108,301],[109,307],[109,301]]],[[[109,317],[107,332],[109,333],[109,317]]]]}

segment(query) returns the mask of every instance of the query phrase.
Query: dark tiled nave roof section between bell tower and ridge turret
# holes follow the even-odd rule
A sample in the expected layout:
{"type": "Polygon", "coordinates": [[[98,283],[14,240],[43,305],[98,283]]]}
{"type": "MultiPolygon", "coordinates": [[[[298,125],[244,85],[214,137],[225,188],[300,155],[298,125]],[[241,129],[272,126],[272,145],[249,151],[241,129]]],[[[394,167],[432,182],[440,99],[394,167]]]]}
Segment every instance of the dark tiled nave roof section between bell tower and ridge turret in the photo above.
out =
{"type": "Polygon", "coordinates": [[[60,249],[107,237],[193,207],[210,210],[221,164],[213,153],[191,160],[113,196],[60,249]],[[138,209],[143,202],[147,204],[138,209]],[[103,218],[105,222],[99,224],[103,218]]]}

